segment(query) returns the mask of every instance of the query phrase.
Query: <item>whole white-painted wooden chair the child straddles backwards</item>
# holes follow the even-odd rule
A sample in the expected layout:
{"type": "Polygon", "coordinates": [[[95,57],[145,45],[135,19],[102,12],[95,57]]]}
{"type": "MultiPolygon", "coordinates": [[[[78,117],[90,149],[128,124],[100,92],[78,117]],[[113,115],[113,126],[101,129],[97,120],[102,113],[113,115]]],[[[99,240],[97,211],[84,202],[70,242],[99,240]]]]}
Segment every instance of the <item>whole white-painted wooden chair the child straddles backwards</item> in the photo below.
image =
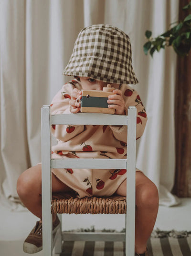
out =
{"type": "MultiPolygon", "coordinates": [[[[62,241],[125,241],[126,256],[134,256],[135,248],[135,171],[136,171],[136,119],[137,109],[135,106],[128,107],[128,116],[78,113],[51,115],[49,105],[42,106],[42,247],[44,256],[59,255],[62,251],[62,241]],[[127,159],[51,159],[51,126],[55,124],[73,125],[127,125],[127,159]],[[91,169],[127,169],[127,200],[123,212],[121,207],[115,204],[114,213],[126,214],[126,233],[62,233],[59,229],[52,235],[52,212],[62,213],[53,210],[52,200],[52,168],[91,168],[91,169]],[[127,201],[127,208],[126,208],[127,201]]],[[[73,198],[74,199],[74,198],[73,198]]],[[[83,198],[82,198],[83,199],[83,198]]],[[[86,198],[91,199],[91,198],[86,198]]],[[[122,198],[123,199],[123,198],[122,198]]],[[[125,198],[126,199],[126,198],[125,198]]],[[[74,199],[73,201],[81,200],[74,199]]],[[[113,199],[111,199],[112,201],[113,199]]],[[[105,200],[106,201],[106,200],[105,200]]],[[[122,200],[124,202],[124,200],[122,200]]],[[[91,201],[94,203],[94,200],[91,201]]],[[[110,202],[110,200],[107,200],[110,202]]],[[[75,213],[81,213],[80,204],[75,213]]],[[[106,206],[108,213],[111,204],[106,206]]],[[[76,210],[76,209],[75,209],[76,210]]],[[[90,211],[88,211],[90,212],[90,211]]],[[[112,209],[111,209],[112,212],[112,209]]],[[[96,212],[98,213],[98,212],[96,212]]],[[[112,212],[113,213],[113,212],[112,212]]],[[[60,220],[61,214],[59,214],[60,220]]],[[[61,225],[62,227],[62,225],[61,225]]],[[[111,227],[112,228],[112,227],[111,227]]]]}

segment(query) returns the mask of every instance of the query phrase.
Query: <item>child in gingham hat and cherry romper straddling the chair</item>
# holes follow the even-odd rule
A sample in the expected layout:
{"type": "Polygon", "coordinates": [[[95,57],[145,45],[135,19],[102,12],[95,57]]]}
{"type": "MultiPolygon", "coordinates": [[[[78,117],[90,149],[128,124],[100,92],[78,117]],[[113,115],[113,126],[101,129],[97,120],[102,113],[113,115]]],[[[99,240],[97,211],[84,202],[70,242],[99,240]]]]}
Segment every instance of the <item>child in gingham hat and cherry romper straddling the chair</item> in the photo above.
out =
{"type": "MultiPolygon", "coordinates": [[[[128,84],[138,80],[131,66],[129,37],[120,29],[107,24],[86,27],[78,35],[73,54],[64,70],[74,80],[64,84],[54,96],[52,114],[80,112],[81,89],[102,90],[107,83],[114,87],[108,97],[108,107],[116,115],[127,115],[129,105],[137,108],[137,139],[143,134],[147,115],[136,90],[128,84]]],[[[53,158],[126,158],[127,127],[95,125],[53,125],[58,144],[52,148],[53,158]]],[[[126,170],[53,169],[52,192],[75,191],[76,196],[126,196],[126,170]]],[[[23,172],[17,192],[23,204],[40,221],[26,238],[23,250],[42,250],[41,164],[23,172]]],[[[158,189],[136,168],[136,227],[135,255],[148,256],[147,240],[153,230],[159,198],[158,189]]],[[[53,233],[59,220],[53,214],[53,233]]]]}

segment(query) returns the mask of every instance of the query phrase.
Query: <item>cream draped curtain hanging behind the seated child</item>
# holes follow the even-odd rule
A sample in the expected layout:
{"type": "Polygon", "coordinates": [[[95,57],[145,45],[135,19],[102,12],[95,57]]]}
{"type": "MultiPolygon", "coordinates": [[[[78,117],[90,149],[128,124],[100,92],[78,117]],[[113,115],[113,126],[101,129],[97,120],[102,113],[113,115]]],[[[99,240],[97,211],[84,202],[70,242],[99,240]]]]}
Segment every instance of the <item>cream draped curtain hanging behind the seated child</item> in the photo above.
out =
{"type": "Polygon", "coordinates": [[[145,56],[145,31],[163,33],[178,20],[178,0],[0,1],[0,184],[1,197],[17,208],[19,175],[41,161],[41,106],[68,80],[62,75],[76,36],[95,23],[129,35],[138,90],[148,123],[137,142],[137,167],[158,187],[160,204],[179,198],[170,191],[175,174],[172,49],[145,56]]]}

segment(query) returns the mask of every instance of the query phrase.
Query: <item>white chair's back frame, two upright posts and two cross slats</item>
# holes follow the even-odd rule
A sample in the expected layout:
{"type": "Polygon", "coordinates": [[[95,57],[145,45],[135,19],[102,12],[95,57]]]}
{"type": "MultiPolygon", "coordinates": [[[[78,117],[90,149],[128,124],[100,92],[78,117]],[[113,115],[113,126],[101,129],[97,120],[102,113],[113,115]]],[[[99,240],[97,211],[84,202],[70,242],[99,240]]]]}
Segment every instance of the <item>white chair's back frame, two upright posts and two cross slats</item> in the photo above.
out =
{"type": "MultiPolygon", "coordinates": [[[[42,225],[51,219],[52,174],[51,168],[127,169],[126,229],[131,230],[126,246],[132,246],[135,237],[135,171],[136,171],[136,124],[137,109],[128,107],[128,115],[77,113],[51,115],[49,105],[42,106],[42,225]],[[127,159],[51,159],[52,125],[127,125],[127,159]],[[48,212],[48,213],[47,213],[48,212]]],[[[43,226],[43,233],[51,230],[43,226]]],[[[43,237],[42,237],[43,239],[43,237]]],[[[50,238],[51,239],[51,238],[50,238]]],[[[52,243],[50,241],[50,243],[52,243]]],[[[133,252],[133,251],[132,251],[133,252]]],[[[129,254],[131,255],[131,254],[129,254]]]]}

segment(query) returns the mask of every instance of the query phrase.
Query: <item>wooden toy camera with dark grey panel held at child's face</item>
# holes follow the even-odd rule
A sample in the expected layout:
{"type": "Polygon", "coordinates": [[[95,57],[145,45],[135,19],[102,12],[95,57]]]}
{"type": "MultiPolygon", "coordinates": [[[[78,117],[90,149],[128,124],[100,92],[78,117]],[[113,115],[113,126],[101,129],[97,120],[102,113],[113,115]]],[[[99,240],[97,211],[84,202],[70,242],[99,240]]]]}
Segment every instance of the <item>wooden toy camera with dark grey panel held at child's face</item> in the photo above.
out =
{"type": "Polygon", "coordinates": [[[114,114],[114,108],[108,108],[107,103],[108,96],[112,95],[112,91],[115,90],[110,84],[103,88],[103,91],[96,90],[82,90],[82,99],[77,99],[77,102],[81,102],[81,112],[90,113],[105,113],[114,114]]]}

